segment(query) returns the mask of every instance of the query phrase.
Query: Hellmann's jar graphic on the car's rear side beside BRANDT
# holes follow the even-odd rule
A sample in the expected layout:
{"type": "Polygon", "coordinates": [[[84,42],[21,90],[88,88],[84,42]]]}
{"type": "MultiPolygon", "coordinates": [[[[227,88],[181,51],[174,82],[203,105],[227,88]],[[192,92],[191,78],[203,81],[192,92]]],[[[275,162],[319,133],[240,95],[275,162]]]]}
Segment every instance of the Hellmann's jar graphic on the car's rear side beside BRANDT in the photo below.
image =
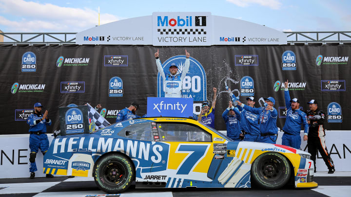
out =
{"type": "Polygon", "coordinates": [[[76,153],[68,161],[67,175],[79,177],[93,176],[94,161],[91,155],[76,153]]]}

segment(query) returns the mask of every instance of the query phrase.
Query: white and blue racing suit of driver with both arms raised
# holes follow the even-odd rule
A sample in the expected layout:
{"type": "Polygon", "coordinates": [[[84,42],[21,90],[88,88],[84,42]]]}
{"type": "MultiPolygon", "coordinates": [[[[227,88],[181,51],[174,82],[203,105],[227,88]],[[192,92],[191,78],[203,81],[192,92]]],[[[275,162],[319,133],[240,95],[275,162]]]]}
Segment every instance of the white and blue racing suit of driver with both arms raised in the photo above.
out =
{"type": "Polygon", "coordinates": [[[169,72],[165,73],[163,71],[161,61],[159,60],[159,58],[156,59],[156,65],[157,65],[157,70],[163,79],[163,91],[165,92],[165,97],[180,98],[183,80],[189,71],[189,66],[190,66],[189,58],[185,59],[184,68],[181,74],[179,74],[178,72],[175,75],[172,75],[169,72]]]}

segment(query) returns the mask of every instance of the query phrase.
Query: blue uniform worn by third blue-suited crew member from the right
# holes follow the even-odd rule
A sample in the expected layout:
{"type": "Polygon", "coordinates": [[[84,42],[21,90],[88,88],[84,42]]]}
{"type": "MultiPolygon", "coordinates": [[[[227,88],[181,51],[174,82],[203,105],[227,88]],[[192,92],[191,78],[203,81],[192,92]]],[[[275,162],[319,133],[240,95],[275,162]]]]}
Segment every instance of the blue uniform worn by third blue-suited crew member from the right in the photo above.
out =
{"type": "Polygon", "coordinates": [[[261,132],[260,125],[258,124],[259,116],[244,108],[237,106],[241,112],[240,116],[240,128],[244,131],[245,138],[244,141],[248,142],[260,142],[261,132]]]}

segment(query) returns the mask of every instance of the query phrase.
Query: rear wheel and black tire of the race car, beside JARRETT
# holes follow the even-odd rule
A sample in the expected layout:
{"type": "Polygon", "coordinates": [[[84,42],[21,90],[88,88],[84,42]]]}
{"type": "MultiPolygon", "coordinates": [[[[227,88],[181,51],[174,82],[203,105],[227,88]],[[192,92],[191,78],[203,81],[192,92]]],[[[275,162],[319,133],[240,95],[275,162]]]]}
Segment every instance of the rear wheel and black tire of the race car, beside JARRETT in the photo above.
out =
{"type": "Polygon", "coordinates": [[[110,154],[100,159],[94,167],[93,177],[98,188],[109,194],[125,191],[134,179],[132,161],[121,154],[110,154]]]}

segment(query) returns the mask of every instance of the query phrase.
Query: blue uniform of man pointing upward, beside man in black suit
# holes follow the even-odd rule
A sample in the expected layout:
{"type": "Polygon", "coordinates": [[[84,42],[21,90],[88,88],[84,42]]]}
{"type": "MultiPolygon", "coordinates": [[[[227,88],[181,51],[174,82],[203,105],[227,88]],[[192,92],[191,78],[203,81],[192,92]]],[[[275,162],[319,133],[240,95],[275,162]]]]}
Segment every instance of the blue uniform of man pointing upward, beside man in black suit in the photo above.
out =
{"type": "Polygon", "coordinates": [[[305,135],[308,134],[308,122],[307,122],[307,115],[305,112],[301,111],[300,109],[292,109],[291,102],[298,102],[298,99],[294,98],[290,100],[289,90],[285,89],[284,91],[285,97],[285,105],[287,108],[287,117],[285,120],[285,124],[283,127],[283,137],[282,137],[282,145],[291,146],[296,149],[301,148],[301,125],[303,125],[305,131],[305,135]]]}

